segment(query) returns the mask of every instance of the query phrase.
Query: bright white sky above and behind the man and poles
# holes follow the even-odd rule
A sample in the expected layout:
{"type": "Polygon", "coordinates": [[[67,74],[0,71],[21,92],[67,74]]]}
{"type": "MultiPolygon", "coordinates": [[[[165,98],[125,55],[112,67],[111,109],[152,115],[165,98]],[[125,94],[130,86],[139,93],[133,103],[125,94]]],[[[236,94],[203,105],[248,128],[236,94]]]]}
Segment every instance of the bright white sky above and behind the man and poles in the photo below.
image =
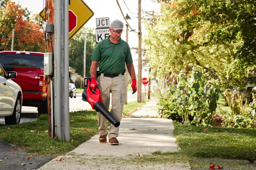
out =
{"type": "MultiPolygon", "coordinates": [[[[43,9],[43,2],[44,0],[11,0],[16,3],[19,3],[23,8],[27,7],[27,9],[33,13],[39,13],[43,9]]],[[[109,18],[110,22],[115,19],[119,19],[124,23],[124,30],[125,20],[120,12],[120,9],[117,5],[116,0],[83,0],[94,12],[94,16],[84,25],[85,27],[89,28],[96,28],[96,18],[109,18]]],[[[71,0],[72,2],[72,0],[71,0]]],[[[132,29],[138,30],[138,0],[118,0],[120,7],[123,11],[123,14],[126,16],[128,14],[131,19],[127,20],[129,25],[132,29]],[[125,2],[125,3],[124,3],[125,2]],[[126,7],[126,5],[127,7],[126,7]]],[[[141,1],[141,8],[142,11],[152,11],[155,12],[160,11],[160,4],[154,3],[151,0],[142,0],[141,1]]],[[[144,25],[142,23],[142,35],[146,35],[144,25]]],[[[126,33],[125,31],[121,35],[123,40],[126,40],[126,33]]],[[[142,36],[143,38],[143,36],[142,36]]],[[[138,34],[135,32],[130,32],[128,35],[128,43],[130,47],[138,47],[138,34]]],[[[133,56],[133,64],[135,67],[135,72],[138,74],[138,55],[132,51],[133,56]]],[[[142,71],[142,77],[148,77],[148,72],[142,71]]]]}

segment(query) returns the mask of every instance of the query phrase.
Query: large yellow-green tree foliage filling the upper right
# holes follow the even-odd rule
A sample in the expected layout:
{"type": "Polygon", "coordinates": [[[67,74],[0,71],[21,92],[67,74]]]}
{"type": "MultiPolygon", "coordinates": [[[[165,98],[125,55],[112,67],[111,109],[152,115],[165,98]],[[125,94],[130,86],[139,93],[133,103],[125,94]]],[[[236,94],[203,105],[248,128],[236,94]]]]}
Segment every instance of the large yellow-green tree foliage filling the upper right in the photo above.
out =
{"type": "Polygon", "coordinates": [[[162,2],[145,39],[146,57],[158,78],[190,64],[225,86],[248,83],[256,64],[255,5],[255,0],[162,2]]]}

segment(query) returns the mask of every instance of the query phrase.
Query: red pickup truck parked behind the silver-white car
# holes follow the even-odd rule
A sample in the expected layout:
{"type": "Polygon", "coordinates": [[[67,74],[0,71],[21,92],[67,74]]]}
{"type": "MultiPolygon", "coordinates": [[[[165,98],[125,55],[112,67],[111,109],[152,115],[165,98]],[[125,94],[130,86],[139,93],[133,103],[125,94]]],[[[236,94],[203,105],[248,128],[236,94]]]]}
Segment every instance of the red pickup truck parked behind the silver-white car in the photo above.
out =
{"type": "Polygon", "coordinates": [[[47,82],[44,76],[44,54],[41,52],[2,51],[0,63],[6,72],[15,71],[12,79],[22,90],[23,106],[37,107],[47,113],[47,82]]]}

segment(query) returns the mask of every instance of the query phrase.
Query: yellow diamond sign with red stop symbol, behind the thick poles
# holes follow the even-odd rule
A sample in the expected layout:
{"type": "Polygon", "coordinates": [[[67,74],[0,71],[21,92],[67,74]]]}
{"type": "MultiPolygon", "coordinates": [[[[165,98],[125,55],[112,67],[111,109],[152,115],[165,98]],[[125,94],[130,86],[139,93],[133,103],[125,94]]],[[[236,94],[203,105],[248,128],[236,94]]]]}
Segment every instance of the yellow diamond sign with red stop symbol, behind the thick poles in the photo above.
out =
{"type": "MultiPolygon", "coordinates": [[[[83,0],[69,0],[69,40],[92,18],[94,12],[83,0]]],[[[45,10],[39,15],[45,19],[45,10]]]]}

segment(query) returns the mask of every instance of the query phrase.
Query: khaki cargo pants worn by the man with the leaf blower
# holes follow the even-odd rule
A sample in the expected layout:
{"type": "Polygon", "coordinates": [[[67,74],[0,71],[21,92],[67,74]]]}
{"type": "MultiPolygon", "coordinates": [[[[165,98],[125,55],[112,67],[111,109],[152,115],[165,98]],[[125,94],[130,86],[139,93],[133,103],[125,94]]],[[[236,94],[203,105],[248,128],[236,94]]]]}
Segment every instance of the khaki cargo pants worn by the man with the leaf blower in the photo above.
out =
{"type": "MultiPolygon", "coordinates": [[[[110,113],[114,115],[114,117],[121,121],[123,114],[123,104],[126,99],[126,83],[125,76],[119,74],[117,77],[104,77],[104,74],[101,73],[101,76],[97,78],[97,83],[99,90],[102,94],[102,103],[105,108],[109,109],[110,104],[110,93],[111,93],[111,104],[112,108],[110,113]]],[[[100,112],[97,112],[98,116],[98,124],[99,124],[99,134],[100,136],[108,133],[108,139],[117,138],[119,127],[114,127],[113,124],[110,125],[108,130],[107,123],[108,119],[106,119],[100,112]]]]}

